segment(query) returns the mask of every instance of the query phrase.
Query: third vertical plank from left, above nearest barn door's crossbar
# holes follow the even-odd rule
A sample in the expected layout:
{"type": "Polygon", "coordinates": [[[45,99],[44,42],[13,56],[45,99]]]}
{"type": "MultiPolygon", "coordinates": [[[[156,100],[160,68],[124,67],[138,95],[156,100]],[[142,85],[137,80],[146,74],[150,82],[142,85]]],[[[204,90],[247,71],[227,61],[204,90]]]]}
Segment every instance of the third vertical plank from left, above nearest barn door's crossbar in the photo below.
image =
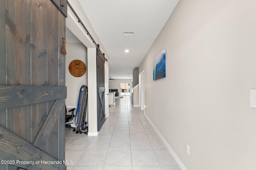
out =
{"type": "Polygon", "coordinates": [[[31,2],[31,85],[47,85],[47,13],[45,0],[31,2]],[[37,31],[33,31],[37,30],[37,31]]]}

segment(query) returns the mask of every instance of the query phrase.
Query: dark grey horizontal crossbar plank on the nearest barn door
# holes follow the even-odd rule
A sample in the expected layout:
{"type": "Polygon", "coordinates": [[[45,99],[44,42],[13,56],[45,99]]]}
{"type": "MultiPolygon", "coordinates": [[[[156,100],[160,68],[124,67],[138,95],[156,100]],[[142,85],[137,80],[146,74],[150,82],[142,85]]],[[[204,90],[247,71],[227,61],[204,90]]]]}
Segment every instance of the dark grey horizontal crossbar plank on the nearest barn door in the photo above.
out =
{"type": "Polygon", "coordinates": [[[66,86],[0,86],[0,110],[66,98],[66,86]]]}

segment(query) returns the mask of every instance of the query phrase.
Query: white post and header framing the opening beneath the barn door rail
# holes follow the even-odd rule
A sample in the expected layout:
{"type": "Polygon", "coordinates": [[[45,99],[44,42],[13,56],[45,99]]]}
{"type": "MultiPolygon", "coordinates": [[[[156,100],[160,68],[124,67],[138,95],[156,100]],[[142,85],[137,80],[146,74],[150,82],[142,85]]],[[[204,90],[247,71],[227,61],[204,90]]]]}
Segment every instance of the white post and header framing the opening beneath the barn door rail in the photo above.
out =
{"type": "MultiPolygon", "coordinates": [[[[86,14],[82,10],[81,4],[78,0],[69,1],[72,8],[76,11],[82,23],[85,25],[86,29],[89,31],[90,35],[93,37],[94,41],[100,45],[100,50],[105,53],[106,59],[108,59],[108,54],[106,53],[103,45],[101,44],[96,32],[94,31],[90,21],[88,20],[86,14]]],[[[88,48],[88,136],[98,135],[97,130],[97,86],[95,84],[96,80],[96,46],[94,45],[92,39],[87,35],[86,31],[80,23],[78,23],[77,18],[74,16],[70,8],[68,7],[68,18],[66,18],[66,27],[70,29],[76,37],[88,48]],[[94,60],[95,59],[95,60],[94,60]]],[[[109,60],[108,60],[109,61],[109,60]]],[[[108,63],[107,63],[108,64],[108,63]]]]}

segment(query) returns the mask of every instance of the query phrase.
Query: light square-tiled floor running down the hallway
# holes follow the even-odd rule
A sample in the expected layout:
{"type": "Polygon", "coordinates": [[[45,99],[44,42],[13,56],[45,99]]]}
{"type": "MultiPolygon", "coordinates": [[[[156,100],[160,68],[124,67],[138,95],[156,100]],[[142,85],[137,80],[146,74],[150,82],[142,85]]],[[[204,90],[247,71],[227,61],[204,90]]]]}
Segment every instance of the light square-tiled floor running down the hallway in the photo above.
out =
{"type": "Polygon", "coordinates": [[[66,128],[67,170],[181,170],[129,96],[109,107],[98,136],[66,128]]]}

